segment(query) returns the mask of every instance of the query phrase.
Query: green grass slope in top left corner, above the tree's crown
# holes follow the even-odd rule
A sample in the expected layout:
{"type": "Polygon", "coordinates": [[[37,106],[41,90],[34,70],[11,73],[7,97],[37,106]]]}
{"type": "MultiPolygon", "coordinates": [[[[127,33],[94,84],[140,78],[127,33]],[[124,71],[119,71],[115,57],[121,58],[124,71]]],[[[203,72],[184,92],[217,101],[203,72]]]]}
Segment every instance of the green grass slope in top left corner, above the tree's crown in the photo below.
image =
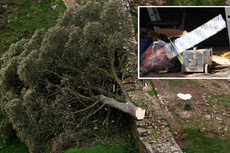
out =
{"type": "Polygon", "coordinates": [[[67,9],[62,0],[42,0],[40,3],[31,0],[11,0],[5,4],[8,4],[6,15],[0,18],[1,53],[12,43],[22,38],[30,38],[36,29],[48,29],[55,25],[59,13],[67,9]],[[56,9],[52,9],[54,4],[58,4],[56,9]]]}

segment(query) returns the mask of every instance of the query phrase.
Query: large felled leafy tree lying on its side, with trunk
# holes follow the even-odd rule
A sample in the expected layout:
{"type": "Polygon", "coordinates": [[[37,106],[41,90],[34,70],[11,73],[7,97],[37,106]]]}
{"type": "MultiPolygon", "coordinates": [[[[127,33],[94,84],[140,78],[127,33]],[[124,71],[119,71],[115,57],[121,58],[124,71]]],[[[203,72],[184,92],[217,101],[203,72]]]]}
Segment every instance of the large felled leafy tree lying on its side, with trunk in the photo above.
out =
{"type": "Polygon", "coordinates": [[[117,0],[75,5],[54,27],[10,46],[0,59],[5,143],[15,131],[30,152],[47,144],[61,151],[84,139],[105,105],[144,118],[123,84],[137,50],[128,14],[117,0]]]}

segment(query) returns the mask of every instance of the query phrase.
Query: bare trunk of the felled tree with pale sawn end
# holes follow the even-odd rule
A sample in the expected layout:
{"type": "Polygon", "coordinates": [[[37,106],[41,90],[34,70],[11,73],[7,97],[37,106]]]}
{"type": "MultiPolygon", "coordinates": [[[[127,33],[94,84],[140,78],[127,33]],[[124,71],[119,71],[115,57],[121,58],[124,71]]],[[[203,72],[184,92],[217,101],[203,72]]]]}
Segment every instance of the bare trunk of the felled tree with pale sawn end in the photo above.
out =
{"type": "Polygon", "coordinates": [[[104,104],[107,104],[120,111],[128,113],[135,119],[141,120],[141,119],[144,119],[145,117],[145,110],[133,105],[132,103],[121,103],[121,102],[116,101],[113,98],[105,97],[104,95],[99,95],[96,98],[97,100],[103,102],[104,104]]]}

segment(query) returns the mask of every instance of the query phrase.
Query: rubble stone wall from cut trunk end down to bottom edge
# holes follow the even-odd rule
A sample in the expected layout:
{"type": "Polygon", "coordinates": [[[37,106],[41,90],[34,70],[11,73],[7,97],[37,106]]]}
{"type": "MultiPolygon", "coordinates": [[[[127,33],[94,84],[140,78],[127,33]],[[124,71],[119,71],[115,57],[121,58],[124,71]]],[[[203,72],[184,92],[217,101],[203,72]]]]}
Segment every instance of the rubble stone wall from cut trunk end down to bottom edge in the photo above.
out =
{"type": "Polygon", "coordinates": [[[158,99],[151,97],[147,91],[150,87],[144,87],[144,90],[130,92],[130,96],[135,102],[142,102],[148,108],[144,120],[130,119],[132,132],[139,147],[140,153],[182,153],[177,145],[168,123],[164,120],[158,99]],[[144,100],[143,100],[144,99],[144,100]]]}

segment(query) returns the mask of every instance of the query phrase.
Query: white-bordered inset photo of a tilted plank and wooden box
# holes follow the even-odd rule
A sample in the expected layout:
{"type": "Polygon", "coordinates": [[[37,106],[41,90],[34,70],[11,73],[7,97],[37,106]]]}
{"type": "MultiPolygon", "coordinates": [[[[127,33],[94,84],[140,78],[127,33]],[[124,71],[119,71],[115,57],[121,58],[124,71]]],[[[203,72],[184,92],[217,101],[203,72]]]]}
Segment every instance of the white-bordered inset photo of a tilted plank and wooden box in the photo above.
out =
{"type": "Polygon", "coordinates": [[[230,7],[138,7],[139,79],[230,79],[230,7]]]}

